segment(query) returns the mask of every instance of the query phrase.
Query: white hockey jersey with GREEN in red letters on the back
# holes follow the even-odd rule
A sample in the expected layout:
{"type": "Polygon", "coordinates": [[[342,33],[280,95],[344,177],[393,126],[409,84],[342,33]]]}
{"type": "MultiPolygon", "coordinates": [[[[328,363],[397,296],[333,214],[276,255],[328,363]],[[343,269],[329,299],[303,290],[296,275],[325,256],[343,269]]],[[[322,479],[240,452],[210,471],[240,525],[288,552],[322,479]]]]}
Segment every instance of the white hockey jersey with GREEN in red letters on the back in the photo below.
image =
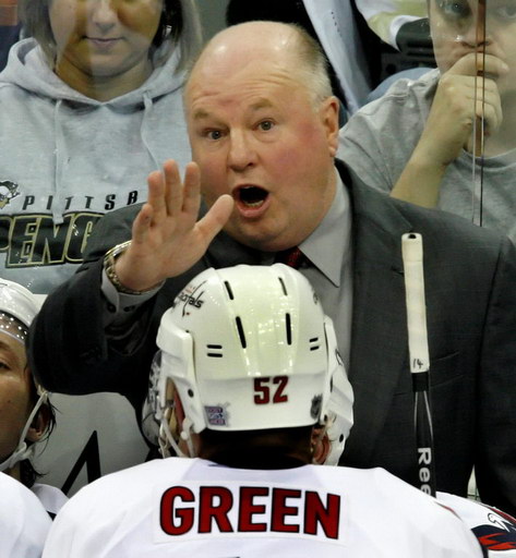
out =
{"type": "Polygon", "coordinates": [[[44,558],[475,558],[466,525],[382,469],[229,469],[169,458],[99,478],[58,513],[44,558]]]}

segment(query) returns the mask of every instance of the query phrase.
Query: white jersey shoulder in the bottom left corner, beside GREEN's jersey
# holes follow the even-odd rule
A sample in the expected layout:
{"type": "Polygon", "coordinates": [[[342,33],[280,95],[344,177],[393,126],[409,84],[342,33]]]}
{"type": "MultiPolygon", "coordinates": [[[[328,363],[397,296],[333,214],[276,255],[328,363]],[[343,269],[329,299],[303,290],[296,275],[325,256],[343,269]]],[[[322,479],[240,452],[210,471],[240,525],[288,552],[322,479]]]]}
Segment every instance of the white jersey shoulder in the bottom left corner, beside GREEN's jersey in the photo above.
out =
{"type": "Polygon", "coordinates": [[[22,483],[0,473],[0,556],[39,558],[51,520],[22,483]]]}

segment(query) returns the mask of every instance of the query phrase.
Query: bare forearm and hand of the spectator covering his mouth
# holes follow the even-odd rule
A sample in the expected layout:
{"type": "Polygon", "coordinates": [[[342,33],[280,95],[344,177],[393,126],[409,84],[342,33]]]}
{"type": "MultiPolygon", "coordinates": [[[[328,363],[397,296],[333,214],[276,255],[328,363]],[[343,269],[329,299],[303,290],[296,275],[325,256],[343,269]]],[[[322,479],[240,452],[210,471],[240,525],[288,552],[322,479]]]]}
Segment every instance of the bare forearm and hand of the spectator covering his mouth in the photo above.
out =
{"type": "MultiPolygon", "coordinates": [[[[485,57],[487,73],[502,75],[507,70],[499,58],[485,57]]],[[[435,207],[448,165],[463,148],[473,150],[471,132],[476,118],[483,112],[487,135],[496,132],[502,122],[496,83],[476,78],[476,57],[470,53],[442,75],[421,137],[391,193],[393,197],[435,207]]]]}

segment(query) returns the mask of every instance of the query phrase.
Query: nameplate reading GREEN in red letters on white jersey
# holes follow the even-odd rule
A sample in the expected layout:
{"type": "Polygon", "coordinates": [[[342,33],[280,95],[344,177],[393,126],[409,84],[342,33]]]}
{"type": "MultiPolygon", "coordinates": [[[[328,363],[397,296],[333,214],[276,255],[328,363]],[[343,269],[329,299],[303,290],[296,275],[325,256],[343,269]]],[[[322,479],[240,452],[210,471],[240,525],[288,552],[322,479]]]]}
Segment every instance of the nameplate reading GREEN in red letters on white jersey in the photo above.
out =
{"type": "Polygon", "coordinates": [[[344,545],[340,495],[289,485],[183,482],[155,494],[155,543],[208,536],[309,537],[344,545]]]}

